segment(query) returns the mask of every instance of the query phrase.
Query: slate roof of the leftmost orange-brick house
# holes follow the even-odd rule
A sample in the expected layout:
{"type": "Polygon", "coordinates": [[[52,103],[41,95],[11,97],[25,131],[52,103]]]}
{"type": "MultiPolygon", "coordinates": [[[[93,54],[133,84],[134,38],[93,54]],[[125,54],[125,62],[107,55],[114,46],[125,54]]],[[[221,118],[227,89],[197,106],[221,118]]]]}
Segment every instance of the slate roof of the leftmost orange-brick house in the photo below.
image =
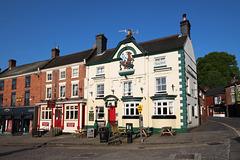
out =
{"type": "Polygon", "coordinates": [[[16,66],[11,69],[7,68],[3,72],[0,73],[0,78],[35,72],[38,70],[38,68],[44,67],[49,61],[50,60],[29,63],[29,64],[25,64],[25,65],[21,65],[21,66],[16,66]]]}

